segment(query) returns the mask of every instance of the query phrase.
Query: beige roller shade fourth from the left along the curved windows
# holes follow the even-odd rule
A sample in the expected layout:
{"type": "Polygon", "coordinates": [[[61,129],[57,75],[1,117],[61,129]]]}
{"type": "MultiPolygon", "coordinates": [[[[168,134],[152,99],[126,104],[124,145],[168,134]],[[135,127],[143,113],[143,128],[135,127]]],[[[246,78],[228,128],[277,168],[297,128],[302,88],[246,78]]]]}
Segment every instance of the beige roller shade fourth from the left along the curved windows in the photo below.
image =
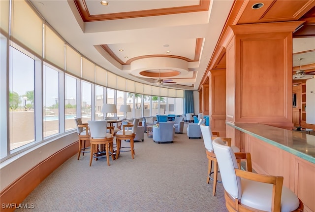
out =
{"type": "Polygon", "coordinates": [[[65,71],[81,77],[81,55],[71,46],[65,45],[65,71]]]}

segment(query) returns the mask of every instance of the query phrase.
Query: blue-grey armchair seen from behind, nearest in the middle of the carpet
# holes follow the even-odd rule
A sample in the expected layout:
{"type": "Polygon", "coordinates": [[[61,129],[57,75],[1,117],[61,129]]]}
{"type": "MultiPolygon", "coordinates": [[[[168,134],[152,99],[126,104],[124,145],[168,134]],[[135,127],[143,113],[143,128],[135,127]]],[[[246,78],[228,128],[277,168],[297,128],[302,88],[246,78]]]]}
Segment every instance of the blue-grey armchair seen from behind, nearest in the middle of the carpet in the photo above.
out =
{"type": "Polygon", "coordinates": [[[153,126],[153,141],[162,143],[174,140],[175,128],[174,122],[161,122],[158,126],[153,126]]]}

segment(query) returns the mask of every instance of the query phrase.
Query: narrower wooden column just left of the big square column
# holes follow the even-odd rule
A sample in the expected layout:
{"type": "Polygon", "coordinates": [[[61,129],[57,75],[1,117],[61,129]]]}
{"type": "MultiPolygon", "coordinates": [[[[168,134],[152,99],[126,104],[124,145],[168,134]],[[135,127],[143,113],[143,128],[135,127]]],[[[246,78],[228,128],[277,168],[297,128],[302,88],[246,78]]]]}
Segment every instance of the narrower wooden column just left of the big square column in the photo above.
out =
{"type": "Polygon", "coordinates": [[[210,70],[210,118],[212,131],[219,131],[221,137],[225,137],[225,69],[210,70]]]}

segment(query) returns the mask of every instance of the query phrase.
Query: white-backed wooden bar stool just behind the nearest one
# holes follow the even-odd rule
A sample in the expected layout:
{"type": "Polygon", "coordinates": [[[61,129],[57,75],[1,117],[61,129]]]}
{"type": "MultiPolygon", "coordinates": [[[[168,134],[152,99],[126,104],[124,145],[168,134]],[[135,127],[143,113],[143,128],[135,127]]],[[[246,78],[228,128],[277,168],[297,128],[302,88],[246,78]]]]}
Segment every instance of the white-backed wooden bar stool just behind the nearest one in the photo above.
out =
{"type": "MultiPolygon", "coordinates": [[[[217,189],[217,182],[221,182],[221,181],[218,181],[218,172],[219,172],[218,171],[218,162],[217,162],[216,154],[213,150],[212,140],[216,138],[216,137],[213,137],[214,135],[219,137],[220,133],[219,132],[212,132],[210,126],[206,126],[204,124],[200,125],[200,130],[202,133],[202,138],[203,138],[203,142],[204,142],[205,147],[206,147],[206,154],[207,154],[207,158],[208,158],[207,183],[209,184],[210,179],[213,179],[212,194],[213,194],[213,196],[215,196],[216,195],[216,189],[217,189]],[[213,172],[211,172],[212,163],[214,163],[213,172]],[[211,174],[213,174],[213,178],[211,178],[211,174]]],[[[228,146],[231,146],[231,138],[221,138],[221,140],[226,142],[226,144],[228,146]]],[[[236,146],[233,146],[232,148],[233,148],[234,152],[240,152],[240,149],[237,148],[236,146]]]]}

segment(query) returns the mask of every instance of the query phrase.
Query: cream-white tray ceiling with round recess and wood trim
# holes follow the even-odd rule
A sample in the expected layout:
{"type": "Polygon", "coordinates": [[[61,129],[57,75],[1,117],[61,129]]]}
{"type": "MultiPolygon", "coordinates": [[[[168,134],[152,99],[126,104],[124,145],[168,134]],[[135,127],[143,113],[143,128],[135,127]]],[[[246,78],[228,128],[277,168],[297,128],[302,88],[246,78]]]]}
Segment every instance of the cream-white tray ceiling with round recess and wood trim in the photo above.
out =
{"type": "MultiPolygon", "coordinates": [[[[66,42],[106,70],[142,83],[154,82],[154,77],[139,74],[143,70],[176,70],[181,74],[169,77],[176,84],[167,86],[190,90],[198,89],[233,4],[233,0],[212,0],[208,11],[84,22],[73,0],[31,2],[66,42]],[[200,54],[196,53],[198,38],[201,39],[200,54]],[[101,54],[99,45],[107,45],[116,58],[108,53],[101,54]],[[195,58],[196,55],[199,57],[195,58]],[[145,59],[139,59],[141,57],[145,59]],[[138,60],[126,64],[130,59],[138,60]]],[[[199,4],[199,0],[108,2],[108,6],[102,6],[99,0],[86,0],[86,6],[91,15],[110,15],[142,10],[166,11],[199,4]]],[[[293,39],[293,53],[314,49],[315,38],[293,39]]],[[[297,58],[303,58],[301,65],[315,63],[314,52],[293,54],[293,66],[299,66],[297,58]]]]}

